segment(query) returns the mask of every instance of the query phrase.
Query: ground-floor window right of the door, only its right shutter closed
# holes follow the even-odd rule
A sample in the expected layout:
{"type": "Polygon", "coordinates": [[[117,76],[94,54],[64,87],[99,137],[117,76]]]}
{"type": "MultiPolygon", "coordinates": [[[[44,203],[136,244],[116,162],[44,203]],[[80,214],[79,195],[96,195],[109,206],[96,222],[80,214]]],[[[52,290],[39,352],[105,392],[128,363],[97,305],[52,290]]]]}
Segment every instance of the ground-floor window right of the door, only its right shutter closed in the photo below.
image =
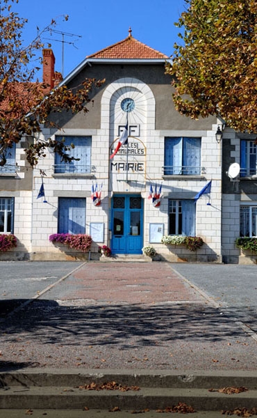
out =
{"type": "Polygon", "coordinates": [[[169,199],[169,235],[195,235],[195,204],[169,199]]]}

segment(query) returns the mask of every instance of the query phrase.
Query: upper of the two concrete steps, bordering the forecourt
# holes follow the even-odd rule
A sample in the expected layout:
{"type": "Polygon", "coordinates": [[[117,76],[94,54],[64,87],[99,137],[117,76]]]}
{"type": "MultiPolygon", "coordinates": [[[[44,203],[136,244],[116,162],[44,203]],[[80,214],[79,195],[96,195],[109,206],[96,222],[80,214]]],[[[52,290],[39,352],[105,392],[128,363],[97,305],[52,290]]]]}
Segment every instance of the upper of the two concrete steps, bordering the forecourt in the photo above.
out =
{"type": "Polygon", "coordinates": [[[256,371],[165,371],[147,369],[21,369],[0,371],[0,389],[21,386],[81,386],[90,382],[167,388],[240,387],[257,390],[256,371]]]}

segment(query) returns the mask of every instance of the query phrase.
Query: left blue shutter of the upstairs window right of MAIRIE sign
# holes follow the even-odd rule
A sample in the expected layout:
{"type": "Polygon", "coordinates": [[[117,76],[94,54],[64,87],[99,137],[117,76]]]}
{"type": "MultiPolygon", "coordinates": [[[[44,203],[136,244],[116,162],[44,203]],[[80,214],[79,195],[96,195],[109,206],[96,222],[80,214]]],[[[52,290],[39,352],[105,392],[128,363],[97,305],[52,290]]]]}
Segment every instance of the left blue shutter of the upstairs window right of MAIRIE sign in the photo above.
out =
{"type": "Polygon", "coordinates": [[[182,171],[182,138],[167,138],[165,140],[165,170],[166,175],[181,174],[182,171]]]}

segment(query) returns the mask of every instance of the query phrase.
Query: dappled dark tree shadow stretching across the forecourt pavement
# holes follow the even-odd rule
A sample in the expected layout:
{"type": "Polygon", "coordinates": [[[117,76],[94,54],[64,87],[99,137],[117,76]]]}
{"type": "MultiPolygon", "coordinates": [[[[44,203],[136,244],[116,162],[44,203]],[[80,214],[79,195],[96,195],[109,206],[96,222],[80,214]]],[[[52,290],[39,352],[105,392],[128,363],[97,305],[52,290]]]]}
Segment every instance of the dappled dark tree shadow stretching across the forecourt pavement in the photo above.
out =
{"type": "MultiPolygon", "coordinates": [[[[0,301],[0,305],[3,301],[0,301]]],[[[12,304],[12,301],[5,301],[12,304]]],[[[118,346],[121,349],[150,347],[158,342],[191,343],[239,339],[245,333],[235,323],[238,311],[222,313],[204,304],[83,305],[60,306],[49,300],[33,300],[0,323],[4,341],[67,346],[118,346]]],[[[248,325],[256,323],[252,312],[248,325]]]]}

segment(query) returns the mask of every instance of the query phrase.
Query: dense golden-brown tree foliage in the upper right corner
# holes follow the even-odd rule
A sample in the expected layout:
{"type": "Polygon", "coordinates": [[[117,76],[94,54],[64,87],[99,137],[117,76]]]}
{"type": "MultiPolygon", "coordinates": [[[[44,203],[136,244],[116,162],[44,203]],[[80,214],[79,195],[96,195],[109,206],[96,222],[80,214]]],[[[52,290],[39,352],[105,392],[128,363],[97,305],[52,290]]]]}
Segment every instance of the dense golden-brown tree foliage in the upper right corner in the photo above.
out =
{"type": "Polygon", "coordinates": [[[235,130],[257,132],[257,1],[185,0],[167,73],[186,116],[221,116],[235,130]]]}

